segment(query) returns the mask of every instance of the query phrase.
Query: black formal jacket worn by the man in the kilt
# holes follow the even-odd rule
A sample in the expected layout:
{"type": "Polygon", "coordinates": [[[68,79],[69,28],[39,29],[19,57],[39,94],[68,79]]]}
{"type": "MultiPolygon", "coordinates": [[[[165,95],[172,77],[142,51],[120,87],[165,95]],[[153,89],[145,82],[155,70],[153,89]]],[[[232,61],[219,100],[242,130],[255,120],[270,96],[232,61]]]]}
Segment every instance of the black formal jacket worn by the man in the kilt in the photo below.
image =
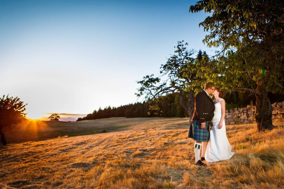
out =
{"type": "Polygon", "coordinates": [[[199,120],[200,123],[211,121],[214,117],[215,105],[204,90],[199,92],[194,100],[194,113],[192,120],[199,120]]]}

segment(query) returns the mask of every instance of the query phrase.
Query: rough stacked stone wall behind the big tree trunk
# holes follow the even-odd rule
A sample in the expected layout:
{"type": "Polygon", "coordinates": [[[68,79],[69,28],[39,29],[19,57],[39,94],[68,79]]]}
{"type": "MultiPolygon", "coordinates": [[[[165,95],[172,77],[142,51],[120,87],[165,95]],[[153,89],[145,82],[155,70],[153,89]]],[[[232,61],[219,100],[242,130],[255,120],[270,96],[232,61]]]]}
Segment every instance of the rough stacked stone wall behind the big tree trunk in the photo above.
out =
{"type": "MultiPolygon", "coordinates": [[[[255,123],[255,106],[226,110],[226,125],[255,123]]],[[[284,101],[272,104],[272,121],[284,121],[284,101]]]]}

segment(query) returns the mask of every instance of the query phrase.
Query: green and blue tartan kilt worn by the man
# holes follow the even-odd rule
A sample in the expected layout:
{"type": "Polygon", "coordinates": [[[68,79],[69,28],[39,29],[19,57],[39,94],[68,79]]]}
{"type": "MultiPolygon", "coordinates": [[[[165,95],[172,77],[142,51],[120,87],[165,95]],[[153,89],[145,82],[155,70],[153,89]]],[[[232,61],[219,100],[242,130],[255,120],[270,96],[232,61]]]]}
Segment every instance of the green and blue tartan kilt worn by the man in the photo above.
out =
{"type": "Polygon", "coordinates": [[[188,132],[188,138],[192,138],[197,142],[207,142],[209,140],[210,132],[208,131],[210,121],[205,121],[205,128],[201,128],[201,123],[196,120],[191,120],[188,132]]]}

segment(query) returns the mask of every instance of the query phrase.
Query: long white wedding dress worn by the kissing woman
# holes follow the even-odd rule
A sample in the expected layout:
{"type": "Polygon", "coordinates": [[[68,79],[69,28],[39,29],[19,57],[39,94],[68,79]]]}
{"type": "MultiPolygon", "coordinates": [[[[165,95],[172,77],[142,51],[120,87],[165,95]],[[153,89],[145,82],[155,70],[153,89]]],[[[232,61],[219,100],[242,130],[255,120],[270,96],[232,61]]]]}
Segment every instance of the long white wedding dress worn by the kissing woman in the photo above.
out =
{"type": "Polygon", "coordinates": [[[223,120],[222,128],[219,129],[222,116],[220,102],[222,100],[223,99],[220,98],[219,102],[215,104],[214,117],[212,118],[213,127],[210,131],[210,138],[205,152],[206,162],[217,162],[229,159],[235,154],[235,152],[231,152],[232,146],[227,139],[225,119],[223,120]]]}

